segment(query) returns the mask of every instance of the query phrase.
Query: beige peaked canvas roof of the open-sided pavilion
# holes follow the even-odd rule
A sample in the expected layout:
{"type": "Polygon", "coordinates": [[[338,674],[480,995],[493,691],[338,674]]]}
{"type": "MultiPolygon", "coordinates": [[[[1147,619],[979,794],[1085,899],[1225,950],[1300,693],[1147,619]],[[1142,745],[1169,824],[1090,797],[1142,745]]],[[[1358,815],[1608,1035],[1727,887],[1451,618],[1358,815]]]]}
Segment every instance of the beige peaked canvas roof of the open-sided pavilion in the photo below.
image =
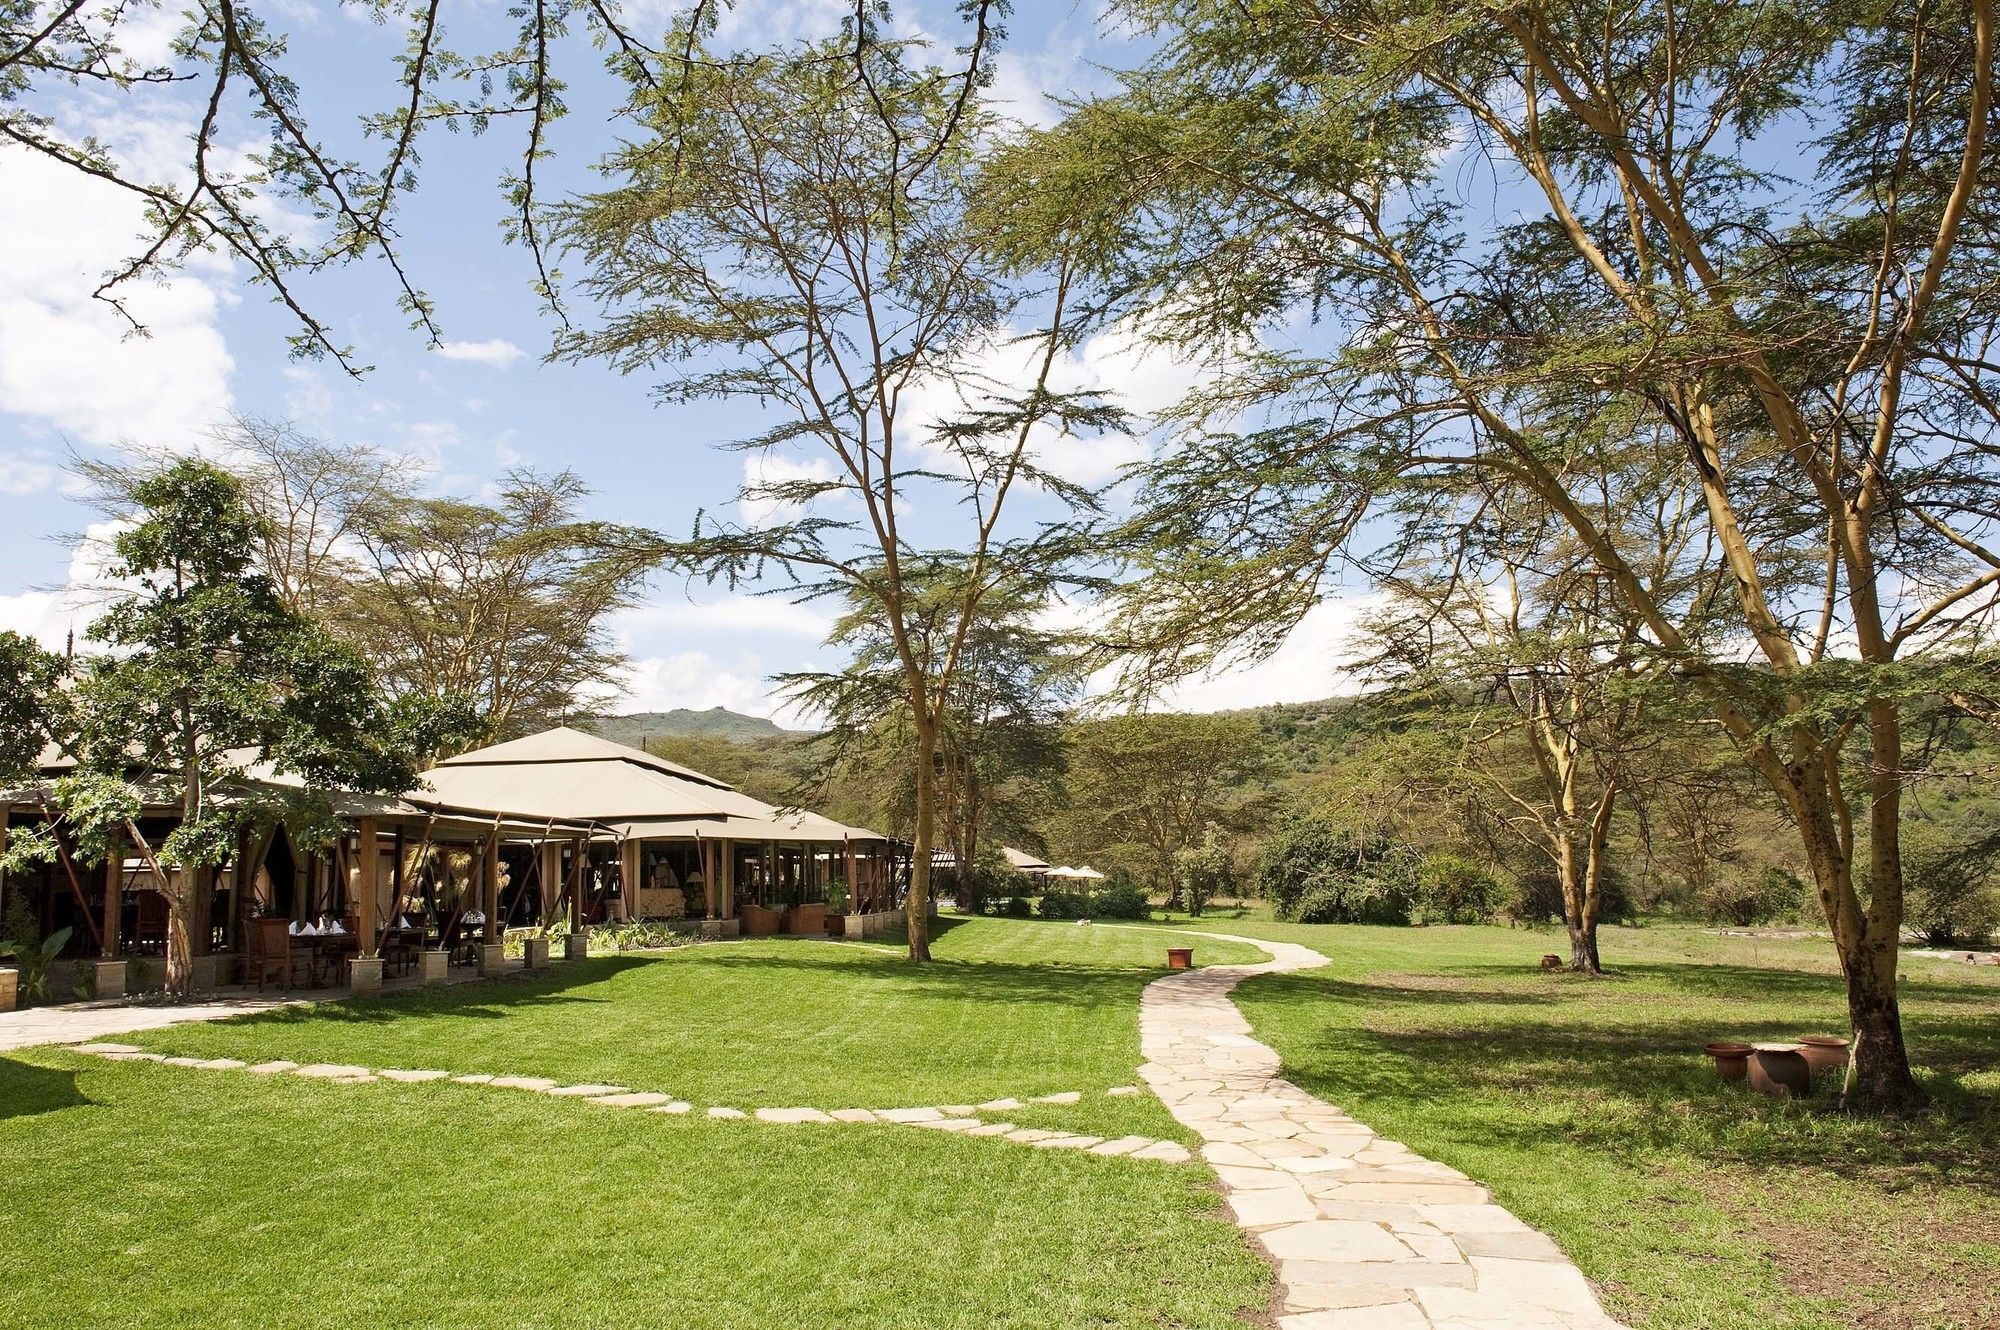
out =
{"type": "Polygon", "coordinates": [[[880,840],[568,726],[448,758],[424,782],[452,808],[598,822],[624,838],[880,840]]]}

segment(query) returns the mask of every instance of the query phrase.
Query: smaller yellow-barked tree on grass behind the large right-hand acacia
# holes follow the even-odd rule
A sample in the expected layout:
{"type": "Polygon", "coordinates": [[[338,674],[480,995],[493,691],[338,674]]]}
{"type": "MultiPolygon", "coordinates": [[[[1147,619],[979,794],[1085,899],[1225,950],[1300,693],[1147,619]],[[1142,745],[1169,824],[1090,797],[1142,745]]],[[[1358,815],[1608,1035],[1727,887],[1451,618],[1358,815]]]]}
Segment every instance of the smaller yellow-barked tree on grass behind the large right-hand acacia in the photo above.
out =
{"type": "MultiPolygon", "coordinates": [[[[1700,498],[1656,466],[1658,440],[1584,456],[1572,488],[1662,604],[1684,604],[1700,498]],[[1634,458],[1634,450],[1638,456],[1634,458]]],[[[1474,476],[1476,480],[1476,476],[1474,476]]],[[[1412,520],[1378,584],[1368,668],[1460,736],[1456,786],[1484,820],[1546,862],[1570,968],[1600,974],[1598,918],[1612,822],[1646,796],[1654,712],[1678,688],[1568,528],[1518,488],[1450,496],[1412,520]]]]}

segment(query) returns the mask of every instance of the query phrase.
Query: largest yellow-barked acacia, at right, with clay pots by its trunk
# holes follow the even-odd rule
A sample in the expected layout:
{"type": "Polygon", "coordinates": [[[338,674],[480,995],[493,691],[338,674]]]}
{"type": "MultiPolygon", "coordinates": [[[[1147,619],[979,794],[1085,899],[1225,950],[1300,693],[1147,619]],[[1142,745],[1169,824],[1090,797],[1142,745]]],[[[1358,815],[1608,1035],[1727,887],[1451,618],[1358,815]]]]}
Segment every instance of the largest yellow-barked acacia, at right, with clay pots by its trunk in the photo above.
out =
{"type": "Polygon", "coordinates": [[[1912,1096],[1902,718],[1984,688],[2000,586],[1990,0],[1124,8],[1156,56],[1024,148],[1024,192],[1168,338],[1322,320],[1190,404],[1252,428],[1154,474],[1134,640],[1282,636],[1386,492],[1534,494],[1796,824],[1852,1096],[1912,1096]],[[1454,142],[1518,178],[1498,210],[1454,142]],[[1578,420],[1676,442],[1718,598],[1634,572],[1578,420]]]}

